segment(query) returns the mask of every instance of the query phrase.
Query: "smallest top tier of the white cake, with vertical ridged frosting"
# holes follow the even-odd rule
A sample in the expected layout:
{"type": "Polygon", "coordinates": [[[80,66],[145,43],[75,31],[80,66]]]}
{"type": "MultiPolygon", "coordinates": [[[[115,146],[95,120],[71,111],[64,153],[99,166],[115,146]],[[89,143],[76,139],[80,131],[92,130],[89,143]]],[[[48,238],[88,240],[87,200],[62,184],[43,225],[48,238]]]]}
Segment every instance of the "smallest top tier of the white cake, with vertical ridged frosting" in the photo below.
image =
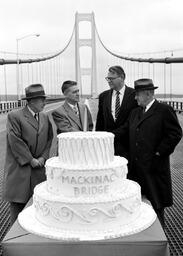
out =
{"type": "Polygon", "coordinates": [[[75,167],[107,165],[114,159],[114,135],[109,132],[66,132],[58,135],[59,159],[75,167]]]}

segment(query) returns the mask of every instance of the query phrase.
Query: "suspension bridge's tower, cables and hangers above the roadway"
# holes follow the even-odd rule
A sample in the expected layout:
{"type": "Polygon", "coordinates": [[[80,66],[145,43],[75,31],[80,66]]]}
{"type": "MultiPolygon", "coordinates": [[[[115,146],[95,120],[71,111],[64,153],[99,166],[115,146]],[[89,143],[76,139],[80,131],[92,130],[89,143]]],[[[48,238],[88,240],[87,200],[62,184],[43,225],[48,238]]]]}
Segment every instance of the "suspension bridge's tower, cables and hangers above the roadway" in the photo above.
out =
{"type": "Polygon", "coordinates": [[[113,64],[124,68],[129,86],[133,87],[138,78],[149,77],[159,86],[161,97],[172,99],[174,95],[183,95],[183,49],[114,53],[102,42],[94,13],[76,13],[71,37],[61,50],[39,55],[21,52],[0,52],[0,55],[0,102],[20,100],[24,88],[35,82],[42,83],[48,95],[58,97],[60,84],[67,79],[78,82],[81,95],[95,97],[108,88],[104,78],[113,64]],[[88,24],[86,38],[81,34],[83,22],[88,24]]]}

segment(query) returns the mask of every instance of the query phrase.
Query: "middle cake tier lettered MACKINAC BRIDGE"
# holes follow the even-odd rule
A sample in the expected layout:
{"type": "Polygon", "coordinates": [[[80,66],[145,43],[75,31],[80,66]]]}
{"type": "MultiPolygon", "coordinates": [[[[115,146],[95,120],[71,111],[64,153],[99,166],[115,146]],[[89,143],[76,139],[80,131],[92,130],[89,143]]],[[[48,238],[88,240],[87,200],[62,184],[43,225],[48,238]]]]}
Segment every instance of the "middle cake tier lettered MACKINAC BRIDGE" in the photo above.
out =
{"type": "Polygon", "coordinates": [[[119,156],[102,167],[73,168],[59,157],[46,161],[47,190],[66,197],[98,197],[125,189],[128,161],[119,156]]]}

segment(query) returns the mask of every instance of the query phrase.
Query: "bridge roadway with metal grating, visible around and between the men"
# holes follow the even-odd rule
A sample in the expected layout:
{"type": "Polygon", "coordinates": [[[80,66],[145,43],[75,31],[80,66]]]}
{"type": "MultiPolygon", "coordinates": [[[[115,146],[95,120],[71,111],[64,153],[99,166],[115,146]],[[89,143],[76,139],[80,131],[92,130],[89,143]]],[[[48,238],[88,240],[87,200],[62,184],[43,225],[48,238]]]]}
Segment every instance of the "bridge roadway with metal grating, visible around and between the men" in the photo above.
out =
{"type": "MultiPolygon", "coordinates": [[[[46,112],[56,108],[60,103],[52,103],[45,106],[46,112]]],[[[95,110],[96,112],[96,110],[95,110]]],[[[6,134],[6,117],[7,114],[0,115],[0,241],[9,228],[9,206],[7,202],[2,200],[2,182],[3,182],[3,165],[5,158],[5,134],[6,134]]],[[[183,127],[183,115],[178,114],[181,126],[183,127]]],[[[55,128],[54,128],[55,131],[55,128]]],[[[55,142],[53,141],[52,153],[55,153],[55,142]]],[[[175,152],[171,156],[172,182],[174,192],[174,205],[166,209],[166,228],[165,233],[170,245],[171,256],[183,255],[183,139],[176,147],[175,152]]],[[[2,255],[0,247],[0,256],[2,255]]],[[[18,256],[18,255],[17,255],[18,256]]]]}

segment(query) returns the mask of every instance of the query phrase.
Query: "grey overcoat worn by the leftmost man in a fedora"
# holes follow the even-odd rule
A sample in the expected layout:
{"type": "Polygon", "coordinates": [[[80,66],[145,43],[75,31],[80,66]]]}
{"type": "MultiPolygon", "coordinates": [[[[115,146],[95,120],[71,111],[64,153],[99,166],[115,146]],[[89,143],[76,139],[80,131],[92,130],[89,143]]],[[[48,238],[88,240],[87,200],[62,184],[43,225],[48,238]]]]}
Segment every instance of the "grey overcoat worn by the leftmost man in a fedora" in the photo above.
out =
{"type": "Polygon", "coordinates": [[[43,112],[39,124],[27,107],[7,116],[7,148],[4,166],[4,198],[26,203],[34,187],[44,181],[45,168],[32,168],[32,158],[49,157],[53,138],[52,125],[43,112]]]}

